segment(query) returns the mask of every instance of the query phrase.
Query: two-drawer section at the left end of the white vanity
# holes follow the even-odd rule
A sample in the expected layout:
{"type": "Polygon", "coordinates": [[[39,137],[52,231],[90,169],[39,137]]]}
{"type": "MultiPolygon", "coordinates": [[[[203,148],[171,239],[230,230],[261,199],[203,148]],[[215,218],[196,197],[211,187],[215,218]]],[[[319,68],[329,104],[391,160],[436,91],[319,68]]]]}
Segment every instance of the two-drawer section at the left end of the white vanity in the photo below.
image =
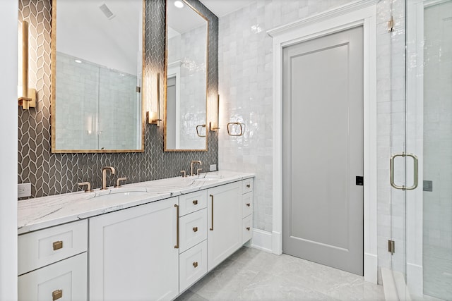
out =
{"type": "Polygon", "coordinates": [[[18,236],[19,300],[87,300],[88,221],[18,236]]]}

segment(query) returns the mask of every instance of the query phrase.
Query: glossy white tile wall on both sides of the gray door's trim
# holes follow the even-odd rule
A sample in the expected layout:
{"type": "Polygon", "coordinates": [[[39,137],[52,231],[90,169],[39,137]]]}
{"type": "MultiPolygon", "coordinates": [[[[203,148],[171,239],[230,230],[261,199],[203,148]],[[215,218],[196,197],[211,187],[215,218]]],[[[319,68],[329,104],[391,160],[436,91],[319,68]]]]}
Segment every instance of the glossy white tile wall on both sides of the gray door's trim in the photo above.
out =
{"type": "MultiPolygon", "coordinates": [[[[313,16],[350,0],[256,0],[219,21],[219,93],[220,93],[220,169],[256,173],[254,187],[254,228],[272,231],[272,154],[273,99],[272,38],[266,31],[280,25],[313,16]],[[226,124],[245,124],[241,137],[230,137],[226,124]]],[[[403,0],[393,0],[397,31],[391,35],[387,22],[391,1],[377,4],[377,168],[378,168],[378,246],[379,266],[391,267],[387,241],[391,238],[391,188],[388,161],[391,156],[391,130],[396,120],[392,110],[403,109],[404,77],[397,72],[404,68],[405,16],[403,0]],[[396,35],[397,33],[397,35],[396,35]],[[391,49],[391,39],[394,44],[391,49]],[[394,51],[400,47],[400,51],[394,51]],[[396,56],[391,59],[391,56],[396,56]],[[391,69],[393,66],[393,71],[391,69]],[[393,85],[391,85],[393,81],[393,85]],[[396,98],[397,96],[397,98],[396,98]],[[391,101],[391,97],[393,101],[391,101]],[[399,102],[397,102],[399,101],[399,102]],[[392,112],[392,113],[391,113],[392,112]],[[386,248],[386,249],[385,249],[386,248]]],[[[405,214],[405,208],[398,208],[405,214]]],[[[403,225],[400,225],[403,226],[403,225]]],[[[399,244],[403,246],[403,243],[399,244]]],[[[381,282],[381,276],[379,276],[381,282]]]]}

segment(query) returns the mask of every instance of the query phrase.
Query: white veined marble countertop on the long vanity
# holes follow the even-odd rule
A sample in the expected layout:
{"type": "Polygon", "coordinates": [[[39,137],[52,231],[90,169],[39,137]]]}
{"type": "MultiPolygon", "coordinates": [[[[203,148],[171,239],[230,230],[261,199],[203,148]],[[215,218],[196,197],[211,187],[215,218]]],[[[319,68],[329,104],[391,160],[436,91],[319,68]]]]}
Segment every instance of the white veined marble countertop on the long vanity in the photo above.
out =
{"type": "Polygon", "coordinates": [[[215,171],[200,176],[152,180],[94,192],[24,199],[18,201],[18,234],[253,177],[254,173],[215,171]]]}

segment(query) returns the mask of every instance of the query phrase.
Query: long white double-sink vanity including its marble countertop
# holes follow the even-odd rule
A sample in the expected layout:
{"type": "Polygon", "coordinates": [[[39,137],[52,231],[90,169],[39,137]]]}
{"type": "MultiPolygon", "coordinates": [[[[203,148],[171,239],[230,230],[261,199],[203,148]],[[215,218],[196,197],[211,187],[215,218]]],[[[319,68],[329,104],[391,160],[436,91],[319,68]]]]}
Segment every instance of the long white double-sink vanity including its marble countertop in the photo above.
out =
{"type": "Polygon", "coordinates": [[[19,300],[174,299],[251,239],[253,178],[222,171],[20,201],[19,300]]]}

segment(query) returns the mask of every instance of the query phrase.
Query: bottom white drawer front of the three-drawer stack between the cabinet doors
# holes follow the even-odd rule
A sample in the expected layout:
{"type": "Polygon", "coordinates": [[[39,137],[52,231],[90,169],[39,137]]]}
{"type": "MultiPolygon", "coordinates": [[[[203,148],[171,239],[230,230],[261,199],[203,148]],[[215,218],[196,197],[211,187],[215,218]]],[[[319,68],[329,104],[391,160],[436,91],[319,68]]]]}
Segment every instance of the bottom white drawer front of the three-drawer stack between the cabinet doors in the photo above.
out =
{"type": "Polygon", "coordinates": [[[207,273],[207,241],[179,255],[179,293],[207,273]]]}

